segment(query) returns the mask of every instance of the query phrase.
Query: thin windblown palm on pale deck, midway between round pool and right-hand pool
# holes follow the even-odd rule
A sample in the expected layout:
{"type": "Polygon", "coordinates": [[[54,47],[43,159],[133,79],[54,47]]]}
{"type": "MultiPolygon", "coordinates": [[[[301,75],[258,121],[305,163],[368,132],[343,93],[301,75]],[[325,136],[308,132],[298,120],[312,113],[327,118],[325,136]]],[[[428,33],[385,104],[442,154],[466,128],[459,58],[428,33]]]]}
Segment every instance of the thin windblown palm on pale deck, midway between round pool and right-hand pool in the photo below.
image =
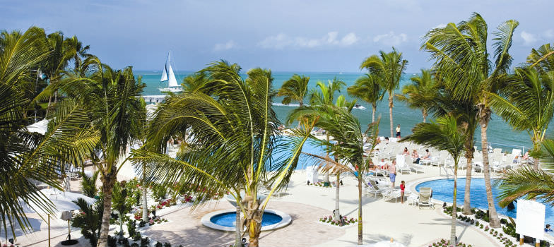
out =
{"type": "MultiPolygon", "coordinates": [[[[328,135],[333,136],[335,143],[331,143],[329,140],[319,140],[312,137],[316,142],[319,142],[325,147],[327,152],[331,153],[338,159],[343,159],[343,162],[353,164],[347,166],[341,164],[334,159],[329,158],[329,155],[325,157],[321,155],[307,154],[311,157],[317,158],[324,167],[324,171],[340,173],[343,171],[350,171],[352,173],[358,172],[358,244],[363,244],[363,217],[362,217],[362,191],[363,174],[369,170],[370,160],[363,159],[363,145],[364,135],[369,136],[367,138],[370,143],[370,151],[377,145],[377,133],[379,127],[379,121],[370,123],[365,133],[360,127],[360,122],[350,112],[354,104],[350,104],[348,108],[332,105],[311,105],[310,107],[299,107],[294,109],[288,117],[287,121],[291,122],[294,119],[313,119],[314,126],[323,128],[328,135]]],[[[372,153],[372,152],[370,152],[372,153]]],[[[337,160],[338,160],[337,159],[337,160]]]]}

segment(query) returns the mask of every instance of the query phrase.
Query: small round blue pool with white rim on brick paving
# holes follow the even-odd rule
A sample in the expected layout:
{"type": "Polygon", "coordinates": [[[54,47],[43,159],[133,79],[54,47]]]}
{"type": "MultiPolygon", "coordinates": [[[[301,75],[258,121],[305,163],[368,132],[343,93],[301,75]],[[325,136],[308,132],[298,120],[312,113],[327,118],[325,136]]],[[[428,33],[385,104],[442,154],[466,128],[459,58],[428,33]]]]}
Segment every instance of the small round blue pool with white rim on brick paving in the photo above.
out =
{"type": "MultiPolygon", "coordinates": [[[[219,210],[202,217],[201,222],[206,227],[221,231],[235,231],[235,210],[219,210]]],[[[261,218],[261,231],[268,231],[286,227],[292,218],[290,215],[277,210],[265,210],[261,218]]]]}

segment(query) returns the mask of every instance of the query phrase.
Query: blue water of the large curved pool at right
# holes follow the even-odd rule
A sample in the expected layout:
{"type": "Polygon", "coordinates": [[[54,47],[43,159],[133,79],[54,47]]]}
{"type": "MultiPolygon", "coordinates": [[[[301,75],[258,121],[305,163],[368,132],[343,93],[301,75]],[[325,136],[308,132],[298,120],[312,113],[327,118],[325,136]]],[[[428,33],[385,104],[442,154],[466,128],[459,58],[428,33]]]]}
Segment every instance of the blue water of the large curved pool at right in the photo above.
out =
{"type": "MultiPolygon", "coordinates": [[[[415,190],[419,191],[420,187],[431,187],[433,191],[432,198],[442,200],[447,203],[452,203],[452,190],[454,188],[454,179],[437,179],[427,181],[415,186],[415,190]]],[[[466,188],[466,179],[458,179],[458,195],[456,203],[459,207],[464,205],[464,190],[466,188]]],[[[484,179],[471,179],[471,207],[477,207],[482,210],[488,209],[487,193],[485,191],[484,179]]],[[[493,187],[493,196],[497,198],[499,191],[493,187]]],[[[514,203],[517,208],[517,203],[514,203]]],[[[507,207],[502,208],[498,205],[495,199],[495,206],[498,213],[516,218],[516,210],[507,210],[507,207]]],[[[554,208],[546,206],[545,224],[554,224],[554,208]]]]}

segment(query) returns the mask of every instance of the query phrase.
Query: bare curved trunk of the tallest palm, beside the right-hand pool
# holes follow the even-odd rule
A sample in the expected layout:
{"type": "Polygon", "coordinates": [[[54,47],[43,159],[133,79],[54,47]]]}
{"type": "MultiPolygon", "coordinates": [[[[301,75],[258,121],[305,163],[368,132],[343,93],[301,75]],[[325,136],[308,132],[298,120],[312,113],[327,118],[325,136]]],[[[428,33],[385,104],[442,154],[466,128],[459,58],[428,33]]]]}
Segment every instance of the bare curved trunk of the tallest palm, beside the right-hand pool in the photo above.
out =
{"type": "Polygon", "coordinates": [[[488,119],[481,119],[481,150],[483,150],[483,175],[485,176],[485,189],[487,191],[487,203],[489,212],[490,227],[500,227],[500,219],[496,213],[495,198],[493,198],[493,187],[490,185],[490,169],[488,164],[488,140],[487,140],[488,119]]]}

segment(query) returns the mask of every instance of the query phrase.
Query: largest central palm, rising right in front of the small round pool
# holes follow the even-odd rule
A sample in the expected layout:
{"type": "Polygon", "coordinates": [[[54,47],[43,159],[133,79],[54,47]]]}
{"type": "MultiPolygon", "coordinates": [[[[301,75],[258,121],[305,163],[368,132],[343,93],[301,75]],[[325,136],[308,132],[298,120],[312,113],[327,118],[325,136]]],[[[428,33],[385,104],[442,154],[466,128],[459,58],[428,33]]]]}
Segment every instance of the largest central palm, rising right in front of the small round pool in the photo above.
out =
{"type": "Polygon", "coordinates": [[[249,246],[258,246],[262,213],[273,193],[290,180],[312,127],[305,122],[293,130],[302,138],[276,135],[279,121],[272,109],[271,71],[254,68],[243,79],[240,66],[220,61],[202,72],[213,90],[168,98],[151,121],[146,148],[135,150],[131,159],[149,164],[146,174],[152,180],[194,185],[191,190],[199,189],[198,198],[204,198],[195,200],[197,205],[230,193],[245,216],[249,246]],[[189,138],[194,148],[179,150],[177,159],[160,154],[167,140],[187,126],[195,133],[189,138]],[[276,159],[271,156],[276,149],[290,156],[276,159]],[[271,188],[261,201],[258,191],[265,182],[271,188]]]}

